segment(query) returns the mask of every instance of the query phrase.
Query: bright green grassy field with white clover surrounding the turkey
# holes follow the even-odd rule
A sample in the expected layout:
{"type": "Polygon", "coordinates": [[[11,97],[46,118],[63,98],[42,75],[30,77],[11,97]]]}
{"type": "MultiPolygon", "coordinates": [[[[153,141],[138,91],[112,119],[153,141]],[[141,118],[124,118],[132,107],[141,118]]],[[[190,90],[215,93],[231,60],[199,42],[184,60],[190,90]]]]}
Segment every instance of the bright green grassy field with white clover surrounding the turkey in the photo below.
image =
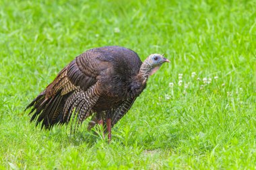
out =
{"type": "Polygon", "coordinates": [[[0,169],[256,169],[256,1],[0,1],[0,169]],[[75,56],[171,60],[113,128],[40,130],[26,105],[75,56]]]}

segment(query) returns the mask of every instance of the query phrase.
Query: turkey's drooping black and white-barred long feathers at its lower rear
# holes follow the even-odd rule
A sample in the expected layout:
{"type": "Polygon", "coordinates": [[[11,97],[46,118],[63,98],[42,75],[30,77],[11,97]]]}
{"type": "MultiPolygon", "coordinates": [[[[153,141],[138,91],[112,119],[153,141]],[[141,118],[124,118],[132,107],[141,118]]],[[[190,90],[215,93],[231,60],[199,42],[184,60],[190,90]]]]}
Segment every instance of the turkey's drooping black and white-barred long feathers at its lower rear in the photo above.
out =
{"type": "Polygon", "coordinates": [[[30,114],[34,114],[30,121],[36,120],[36,126],[42,122],[41,128],[51,129],[55,124],[68,124],[71,116],[71,127],[73,124],[76,127],[92,114],[92,108],[97,100],[98,95],[94,87],[90,87],[88,91],[76,89],[65,95],[61,95],[59,90],[49,98],[45,93],[41,93],[26,109],[32,108],[30,114]]]}

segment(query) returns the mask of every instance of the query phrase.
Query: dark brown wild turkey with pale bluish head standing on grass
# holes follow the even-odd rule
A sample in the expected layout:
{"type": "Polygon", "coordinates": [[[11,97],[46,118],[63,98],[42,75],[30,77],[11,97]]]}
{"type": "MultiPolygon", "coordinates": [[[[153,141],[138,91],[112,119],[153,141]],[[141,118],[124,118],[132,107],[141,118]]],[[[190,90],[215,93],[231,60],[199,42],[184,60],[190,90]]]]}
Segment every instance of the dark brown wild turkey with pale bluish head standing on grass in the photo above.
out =
{"type": "Polygon", "coordinates": [[[88,128],[106,125],[110,140],[111,127],[164,62],[170,61],[151,54],[142,63],[133,50],[120,46],[90,49],[71,61],[28,105],[26,110],[32,108],[29,114],[34,113],[30,122],[36,120],[36,126],[42,122],[41,128],[51,129],[69,122],[77,126],[92,116],[88,128]]]}

